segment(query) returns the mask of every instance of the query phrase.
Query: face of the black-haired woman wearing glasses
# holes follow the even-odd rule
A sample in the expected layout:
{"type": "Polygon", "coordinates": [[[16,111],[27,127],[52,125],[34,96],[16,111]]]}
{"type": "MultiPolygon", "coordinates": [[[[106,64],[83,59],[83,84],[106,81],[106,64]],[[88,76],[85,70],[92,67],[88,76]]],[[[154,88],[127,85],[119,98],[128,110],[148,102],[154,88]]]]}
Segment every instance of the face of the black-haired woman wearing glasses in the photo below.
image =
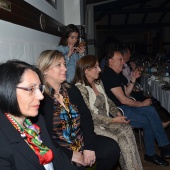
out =
{"type": "Polygon", "coordinates": [[[16,88],[18,105],[24,117],[34,117],[38,114],[40,100],[44,98],[38,89],[39,85],[41,85],[39,76],[32,70],[26,70],[22,76],[22,82],[17,85],[17,87],[23,88],[35,87],[33,93],[16,88]]]}

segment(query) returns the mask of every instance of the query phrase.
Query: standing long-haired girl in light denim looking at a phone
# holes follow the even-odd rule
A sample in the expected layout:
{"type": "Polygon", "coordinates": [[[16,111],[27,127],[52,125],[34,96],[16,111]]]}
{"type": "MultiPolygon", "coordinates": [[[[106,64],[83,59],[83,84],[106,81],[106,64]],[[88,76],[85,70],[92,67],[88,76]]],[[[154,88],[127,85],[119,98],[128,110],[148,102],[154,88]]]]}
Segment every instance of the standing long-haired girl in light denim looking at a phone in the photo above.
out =
{"type": "Polygon", "coordinates": [[[62,52],[67,66],[67,82],[74,78],[77,61],[84,55],[85,47],[79,46],[79,30],[73,25],[66,26],[57,50],[62,52]]]}

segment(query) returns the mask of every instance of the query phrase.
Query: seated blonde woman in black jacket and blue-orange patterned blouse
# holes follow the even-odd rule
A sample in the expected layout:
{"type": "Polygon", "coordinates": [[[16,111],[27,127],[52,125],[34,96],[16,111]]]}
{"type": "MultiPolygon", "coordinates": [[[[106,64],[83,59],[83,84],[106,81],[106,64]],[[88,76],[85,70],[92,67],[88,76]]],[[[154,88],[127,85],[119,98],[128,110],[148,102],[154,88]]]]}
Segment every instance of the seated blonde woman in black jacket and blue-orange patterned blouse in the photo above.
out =
{"type": "Polygon", "coordinates": [[[119,146],[113,139],[94,133],[90,111],[79,90],[64,83],[67,69],[62,53],[42,52],[38,68],[45,84],[40,110],[53,141],[81,169],[96,161],[97,170],[112,170],[119,159],[119,146]]]}

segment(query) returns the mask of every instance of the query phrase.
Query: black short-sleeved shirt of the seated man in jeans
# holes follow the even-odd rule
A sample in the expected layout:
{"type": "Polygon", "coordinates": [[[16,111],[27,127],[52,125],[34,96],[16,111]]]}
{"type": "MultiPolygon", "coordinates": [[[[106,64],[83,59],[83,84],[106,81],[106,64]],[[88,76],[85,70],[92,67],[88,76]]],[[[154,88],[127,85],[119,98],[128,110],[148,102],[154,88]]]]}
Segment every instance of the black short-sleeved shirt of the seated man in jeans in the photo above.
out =
{"type": "Polygon", "coordinates": [[[122,73],[117,74],[110,67],[106,67],[101,75],[101,79],[107,96],[115,103],[116,106],[121,106],[122,103],[117,99],[110,89],[121,87],[125,94],[124,86],[126,86],[128,83],[126,77],[122,73]]]}

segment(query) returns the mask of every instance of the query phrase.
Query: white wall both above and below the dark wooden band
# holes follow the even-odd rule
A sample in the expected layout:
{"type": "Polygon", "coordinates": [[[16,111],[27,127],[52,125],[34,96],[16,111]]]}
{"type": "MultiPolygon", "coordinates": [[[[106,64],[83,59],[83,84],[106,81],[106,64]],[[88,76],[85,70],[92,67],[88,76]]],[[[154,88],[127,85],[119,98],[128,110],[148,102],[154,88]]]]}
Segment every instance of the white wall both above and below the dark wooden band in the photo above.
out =
{"type": "MultiPolygon", "coordinates": [[[[72,13],[80,11],[79,0],[57,0],[57,10],[45,0],[25,1],[64,25],[80,25],[80,19],[77,18],[80,12],[72,13]],[[68,18],[68,15],[72,17],[68,18]]],[[[59,40],[60,37],[0,20],[0,62],[20,59],[36,64],[39,54],[46,49],[56,49],[59,40]]]]}

